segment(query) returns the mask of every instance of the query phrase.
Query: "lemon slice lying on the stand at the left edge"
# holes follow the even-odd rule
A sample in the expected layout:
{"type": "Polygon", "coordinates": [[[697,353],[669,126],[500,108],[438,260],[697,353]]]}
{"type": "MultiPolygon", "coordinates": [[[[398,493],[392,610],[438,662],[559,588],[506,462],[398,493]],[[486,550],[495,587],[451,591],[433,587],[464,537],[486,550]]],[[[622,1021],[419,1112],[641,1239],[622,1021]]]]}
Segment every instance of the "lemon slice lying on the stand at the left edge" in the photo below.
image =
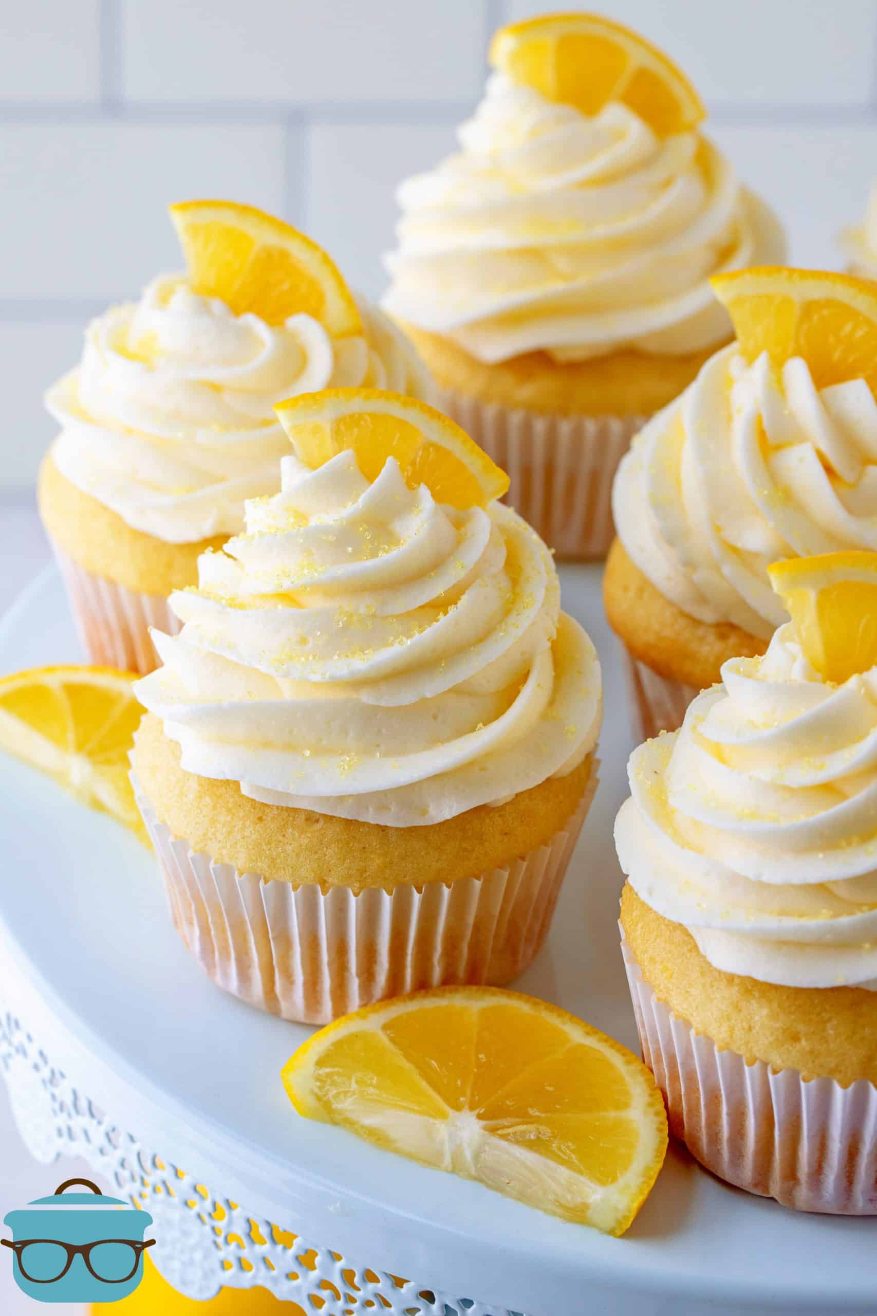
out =
{"type": "Polygon", "coordinates": [[[113,667],[34,667],[4,676],[0,749],[146,840],[128,775],[143,716],[134,680],[137,672],[113,667]]]}

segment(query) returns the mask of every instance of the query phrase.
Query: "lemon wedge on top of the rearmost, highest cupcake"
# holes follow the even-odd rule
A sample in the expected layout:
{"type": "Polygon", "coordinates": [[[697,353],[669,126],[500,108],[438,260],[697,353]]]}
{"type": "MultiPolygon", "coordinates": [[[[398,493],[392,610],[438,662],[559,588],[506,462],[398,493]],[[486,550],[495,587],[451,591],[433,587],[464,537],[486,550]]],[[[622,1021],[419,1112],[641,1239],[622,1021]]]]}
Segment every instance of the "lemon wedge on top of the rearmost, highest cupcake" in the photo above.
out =
{"type": "Polygon", "coordinates": [[[622,101],[659,137],[684,133],[706,117],[676,64],[635,32],[596,13],[550,13],[500,28],[490,63],[547,100],[597,114],[622,101]]]}

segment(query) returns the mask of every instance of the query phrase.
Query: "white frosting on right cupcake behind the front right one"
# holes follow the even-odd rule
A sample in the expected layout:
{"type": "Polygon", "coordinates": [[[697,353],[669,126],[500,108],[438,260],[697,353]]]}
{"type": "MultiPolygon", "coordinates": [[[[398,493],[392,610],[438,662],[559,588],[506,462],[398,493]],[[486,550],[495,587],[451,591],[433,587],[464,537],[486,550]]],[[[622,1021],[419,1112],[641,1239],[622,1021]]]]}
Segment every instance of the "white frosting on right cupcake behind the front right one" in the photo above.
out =
{"type": "Polygon", "coordinates": [[[863,379],[818,390],[802,358],[777,372],[732,343],[634,440],[613,515],[682,612],[767,640],[788,617],[772,562],[877,549],[877,401],[863,379]]]}

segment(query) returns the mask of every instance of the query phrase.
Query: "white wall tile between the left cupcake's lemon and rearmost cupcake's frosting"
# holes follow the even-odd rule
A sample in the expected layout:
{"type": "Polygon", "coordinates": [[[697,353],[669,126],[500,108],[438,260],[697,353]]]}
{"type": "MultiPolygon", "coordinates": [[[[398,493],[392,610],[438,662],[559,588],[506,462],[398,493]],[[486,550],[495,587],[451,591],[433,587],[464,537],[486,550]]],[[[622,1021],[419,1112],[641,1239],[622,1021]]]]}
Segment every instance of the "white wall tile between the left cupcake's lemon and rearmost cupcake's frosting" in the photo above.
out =
{"type": "Polygon", "coordinates": [[[381,257],[393,246],[397,184],[450,154],[455,126],[323,124],[310,130],[308,232],[369,296],[387,286],[381,257]]]}

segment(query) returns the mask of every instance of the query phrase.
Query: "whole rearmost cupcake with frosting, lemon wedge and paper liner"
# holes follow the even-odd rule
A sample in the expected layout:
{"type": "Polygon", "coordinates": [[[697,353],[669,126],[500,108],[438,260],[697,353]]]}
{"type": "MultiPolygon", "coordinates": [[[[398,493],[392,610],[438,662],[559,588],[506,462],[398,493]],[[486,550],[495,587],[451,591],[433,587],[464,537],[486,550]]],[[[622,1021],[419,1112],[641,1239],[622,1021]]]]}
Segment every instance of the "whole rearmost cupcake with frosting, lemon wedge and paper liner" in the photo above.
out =
{"type": "Polygon", "coordinates": [[[564,558],[601,558],[631,436],[731,336],[707,276],[784,258],[767,208],[646,41],[594,14],[502,28],[460,151],[398,192],[385,309],[439,405],[564,558]]]}

